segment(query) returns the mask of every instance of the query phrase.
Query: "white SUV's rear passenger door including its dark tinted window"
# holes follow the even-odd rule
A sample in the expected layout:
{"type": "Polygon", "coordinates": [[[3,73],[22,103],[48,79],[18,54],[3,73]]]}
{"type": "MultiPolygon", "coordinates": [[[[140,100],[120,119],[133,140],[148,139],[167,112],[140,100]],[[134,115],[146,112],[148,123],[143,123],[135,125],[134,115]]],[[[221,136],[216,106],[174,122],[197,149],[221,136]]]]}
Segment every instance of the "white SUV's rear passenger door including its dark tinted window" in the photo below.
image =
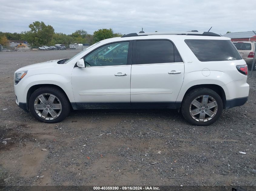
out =
{"type": "Polygon", "coordinates": [[[184,78],[184,63],[170,40],[134,40],[132,106],[174,106],[184,78]]]}

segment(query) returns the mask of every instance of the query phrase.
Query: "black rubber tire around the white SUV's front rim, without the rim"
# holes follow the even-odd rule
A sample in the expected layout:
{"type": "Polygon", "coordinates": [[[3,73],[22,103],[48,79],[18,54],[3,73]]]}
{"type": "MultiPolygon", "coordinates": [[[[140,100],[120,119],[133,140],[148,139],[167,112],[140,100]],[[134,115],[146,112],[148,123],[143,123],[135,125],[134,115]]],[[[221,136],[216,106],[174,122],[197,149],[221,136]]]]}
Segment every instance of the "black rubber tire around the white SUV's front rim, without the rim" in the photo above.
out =
{"type": "MultiPolygon", "coordinates": [[[[69,112],[70,112],[70,102],[68,100],[68,97],[65,95],[65,93],[58,88],[52,88],[52,87],[42,87],[35,90],[28,101],[28,107],[29,111],[32,113],[32,115],[41,122],[44,123],[58,123],[61,122],[63,119],[65,119],[69,112]],[[34,109],[34,103],[37,97],[41,94],[52,94],[56,96],[61,103],[62,110],[59,114],[59,116],[55,119],[43,119],[41,118],[34,109]]],[[[49,114],[48,114],[49,115],[49,114]]]]}

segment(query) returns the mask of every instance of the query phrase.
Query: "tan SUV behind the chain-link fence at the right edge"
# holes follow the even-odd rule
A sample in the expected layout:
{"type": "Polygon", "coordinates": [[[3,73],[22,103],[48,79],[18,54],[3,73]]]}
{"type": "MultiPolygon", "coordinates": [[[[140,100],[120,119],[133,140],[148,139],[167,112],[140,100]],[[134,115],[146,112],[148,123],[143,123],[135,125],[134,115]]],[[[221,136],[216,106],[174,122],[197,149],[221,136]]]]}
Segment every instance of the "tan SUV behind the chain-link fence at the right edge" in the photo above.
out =
{"type": "Polygon", "coordinates": [[[248,65],[248,69],[251,70],[252,66],[254,65],[253,70],[256,70],[256,64],[253,60],[254,59],[254,53],[255,53],[255,41],[239,41],[239,42],[233,42],[235,47],[238,49],[238,52],[240,56],[245,60],[246,64],[248,65]]]}

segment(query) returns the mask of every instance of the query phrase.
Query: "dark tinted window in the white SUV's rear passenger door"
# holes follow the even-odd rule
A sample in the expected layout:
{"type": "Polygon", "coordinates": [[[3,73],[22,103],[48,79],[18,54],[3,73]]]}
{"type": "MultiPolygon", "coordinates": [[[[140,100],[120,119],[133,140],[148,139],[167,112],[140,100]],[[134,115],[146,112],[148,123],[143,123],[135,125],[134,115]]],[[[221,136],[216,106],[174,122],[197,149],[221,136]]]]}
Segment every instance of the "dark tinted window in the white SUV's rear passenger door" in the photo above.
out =
{"type": "Polygon", "coordinates": [[[169,40],[138,40],[135,62],[135,64],[154,64],[182,62],[182,60],[169,40]]]}

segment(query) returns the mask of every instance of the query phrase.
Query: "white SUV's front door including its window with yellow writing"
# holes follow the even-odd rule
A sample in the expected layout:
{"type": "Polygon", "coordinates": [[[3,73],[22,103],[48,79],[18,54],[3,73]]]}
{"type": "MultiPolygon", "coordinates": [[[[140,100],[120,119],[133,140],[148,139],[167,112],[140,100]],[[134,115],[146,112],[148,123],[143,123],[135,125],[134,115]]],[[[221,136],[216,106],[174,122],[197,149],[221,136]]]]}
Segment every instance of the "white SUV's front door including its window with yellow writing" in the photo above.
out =
{"type": "Polygon", "coordinates": [[[74,68],[71,80],[78,108],[130,105],[129,43],[101,46],[84,57],[85,68],[74,68]]]}

